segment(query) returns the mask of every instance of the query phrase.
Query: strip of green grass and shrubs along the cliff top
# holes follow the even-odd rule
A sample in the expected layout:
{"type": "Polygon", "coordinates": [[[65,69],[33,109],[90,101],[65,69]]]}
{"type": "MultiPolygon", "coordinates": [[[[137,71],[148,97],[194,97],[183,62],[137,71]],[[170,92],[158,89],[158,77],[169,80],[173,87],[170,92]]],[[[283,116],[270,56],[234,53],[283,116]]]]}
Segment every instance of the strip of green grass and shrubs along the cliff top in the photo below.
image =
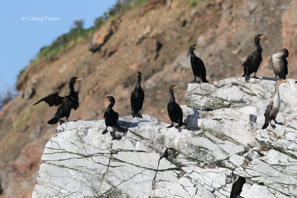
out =
{"type": "Polygon", "coordinates": [[[37,54],[37,58],[31,60],[30,64],[22,69],[18,74],[18,80],[26,73],[26,70],[31,66],[36,64],[39,60],[43,58],[50,58],[52,55],[62,51],[67,50],[69,47],[74,46],[76,43],[81,42],[85,39],[91,38],[93,32],[100,29],[108,20],[114,19],[117,15],[122,12],[131,9],[136,5],[143,4],[150,0],[122,0],[118,1],[113,8],[110,8],[106,12],[104,17],[99,17],[95,20],[94,26],[88,29],[84,29],[82,26],[72,28],[68,33],[58,37],[51,45],[42,47],[37,54]]]}

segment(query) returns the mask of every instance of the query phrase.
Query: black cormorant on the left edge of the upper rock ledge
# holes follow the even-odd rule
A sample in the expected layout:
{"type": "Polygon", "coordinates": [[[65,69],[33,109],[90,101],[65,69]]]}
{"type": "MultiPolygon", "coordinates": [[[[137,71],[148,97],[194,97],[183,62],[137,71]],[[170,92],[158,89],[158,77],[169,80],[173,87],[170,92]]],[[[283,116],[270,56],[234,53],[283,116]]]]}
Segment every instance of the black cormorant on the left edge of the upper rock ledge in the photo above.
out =
{"type": "Polygon", "coordinates": [[[203,61],[194,54],[194,50],[199,46],[202,46],[202,45],[191,45],[190,46],[191,66],[192,66],[193,74],[195,76],[192,83],[195,83],[197,76],[199,77],[199,83],[201,80],[202,80],[202,83],[208,83],[208,81],[206,80],[205,65],[204,65],[203,61]]]}

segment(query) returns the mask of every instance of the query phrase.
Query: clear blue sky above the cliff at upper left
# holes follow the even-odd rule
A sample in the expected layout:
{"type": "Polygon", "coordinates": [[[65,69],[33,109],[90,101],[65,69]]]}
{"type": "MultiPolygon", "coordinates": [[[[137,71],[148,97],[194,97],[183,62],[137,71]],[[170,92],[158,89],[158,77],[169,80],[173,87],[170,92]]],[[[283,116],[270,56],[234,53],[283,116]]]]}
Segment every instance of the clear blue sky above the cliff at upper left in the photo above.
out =
{"type": "Polygon", "coordinates": [[[116,0],[1,1],[0,94],[7,88],[14,88],[19,71],[36,57],[41,47],[67,33],[74,20],[83,19],[84,28],[89,28],[115,3],[116,0]],[[31,20],[32,15],[59,20],[40,23],[31,20]]]}

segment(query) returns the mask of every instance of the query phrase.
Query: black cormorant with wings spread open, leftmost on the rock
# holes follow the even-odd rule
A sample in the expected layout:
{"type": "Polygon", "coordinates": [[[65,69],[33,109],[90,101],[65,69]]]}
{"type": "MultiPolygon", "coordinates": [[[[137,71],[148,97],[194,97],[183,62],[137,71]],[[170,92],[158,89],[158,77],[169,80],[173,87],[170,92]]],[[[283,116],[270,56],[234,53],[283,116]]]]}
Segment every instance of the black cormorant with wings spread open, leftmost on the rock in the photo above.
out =
{"type": "Polygon", "coordinates": [[[66,121],[68,122],[68,118],[70,115],[71,109],[77,110],[79,108],[78,106],[78,92],[74,91],[74,84],[78,80],[82,80],[83,78],[78,77],[72,77],[69,80],[69,94],[68,96],[61,97],[59,96],[58,92],[52,93],[42,99],[40,99],[38,102],[34,103],[33,105],[36,105],[42,101],[48,103],[50,107],[52,106],[59,106],[57,112],[55,113],[55,116],[53,119],[48,121],[48,124],[56,124],[58,121],[60,121],[60,124],[62,124],[63,120],[61,118],[66,117],[66,121]]]}

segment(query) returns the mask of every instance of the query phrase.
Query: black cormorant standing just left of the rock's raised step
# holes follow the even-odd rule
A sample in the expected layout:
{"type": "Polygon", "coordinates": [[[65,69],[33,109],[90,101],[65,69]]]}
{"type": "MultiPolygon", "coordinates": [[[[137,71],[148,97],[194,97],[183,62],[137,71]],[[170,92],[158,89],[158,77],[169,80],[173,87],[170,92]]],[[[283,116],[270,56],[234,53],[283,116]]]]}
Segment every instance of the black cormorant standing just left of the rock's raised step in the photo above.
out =
{"type": "Polygon", "coordinates": [[[178,86],[171,85],[169,87],[169,93],[170,93],[170,100],[167,105],[167,111],[170,120],[172,121],[171,125],[166,127],[166,128],[171,128],[173,127],[173,122],[178,123],[178,125],[174,126],[176,129],[178,126],[188,126],[183,122],[183,111],[181,110],[181,107],[175,102],[175,97],[173,94],[173,90],[177,88],[178,86]]]}

